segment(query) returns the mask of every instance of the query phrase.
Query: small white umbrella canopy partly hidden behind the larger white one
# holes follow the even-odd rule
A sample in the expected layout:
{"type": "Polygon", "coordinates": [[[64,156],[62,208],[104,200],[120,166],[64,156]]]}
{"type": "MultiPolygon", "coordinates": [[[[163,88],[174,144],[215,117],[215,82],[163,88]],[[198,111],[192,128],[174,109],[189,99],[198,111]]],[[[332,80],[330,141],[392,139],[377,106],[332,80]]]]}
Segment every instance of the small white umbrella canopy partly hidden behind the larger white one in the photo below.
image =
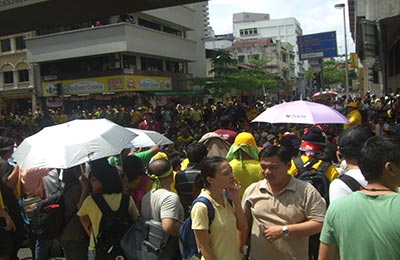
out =
{"type": "Polygon", "coordinates": [[[128,127],[126,129],[137,134],[137,137],[133,139],[130,143],[130,145],[135,148],[151,147],[157,145],[161,146],[174,143],[173,141],[156,131],[128,127]]]}

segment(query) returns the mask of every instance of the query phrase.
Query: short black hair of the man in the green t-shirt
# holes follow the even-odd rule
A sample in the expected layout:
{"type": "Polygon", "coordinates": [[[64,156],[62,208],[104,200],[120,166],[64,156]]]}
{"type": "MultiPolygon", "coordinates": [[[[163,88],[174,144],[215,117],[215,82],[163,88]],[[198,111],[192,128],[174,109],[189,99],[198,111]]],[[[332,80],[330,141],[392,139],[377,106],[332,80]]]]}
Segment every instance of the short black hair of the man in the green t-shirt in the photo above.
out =
{"type": "Polygon", "coordinates": [[[368,139],[358,161],[365,179],[368,182],[378,180],[387,162],[400,166],[400,137],[383,135],[368,139]]]}

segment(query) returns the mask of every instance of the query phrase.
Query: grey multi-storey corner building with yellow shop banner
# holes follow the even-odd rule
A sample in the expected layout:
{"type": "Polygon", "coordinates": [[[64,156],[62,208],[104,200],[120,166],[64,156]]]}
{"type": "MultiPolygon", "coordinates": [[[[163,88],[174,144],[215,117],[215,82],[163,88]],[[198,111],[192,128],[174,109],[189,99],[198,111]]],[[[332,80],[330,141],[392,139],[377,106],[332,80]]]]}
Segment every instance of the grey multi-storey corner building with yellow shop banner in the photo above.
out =
{"type": "Polygon", "coordinates": [[[26,46],[40,75],[38,98],[47,107],[90,109],[191,91],[187,79],[206,75],[207,8],[193,3],[35,31],[26,46]]]}

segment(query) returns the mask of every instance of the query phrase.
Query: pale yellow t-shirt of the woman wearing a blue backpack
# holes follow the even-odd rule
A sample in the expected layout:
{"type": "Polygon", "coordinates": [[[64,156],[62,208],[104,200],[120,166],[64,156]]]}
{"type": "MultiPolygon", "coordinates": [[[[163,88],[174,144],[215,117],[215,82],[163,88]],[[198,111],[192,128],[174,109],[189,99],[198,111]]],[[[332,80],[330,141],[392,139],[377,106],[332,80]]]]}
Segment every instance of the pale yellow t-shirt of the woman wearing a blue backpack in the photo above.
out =
{"type": "MultiPolygon", "coordinates": [[[[236,237],[236,216],[232,206],[225,198],[225,207],[218,204],[204,190],[200,196],[210,200],[215,216],[209,228],[208,210],[204,203],[196,203],[191,209],[192,229],[208,230],[210,247],[218,260],[241,260],[236,237]]],[[[204,260],[204,257],[201,258],[204,260]]]]}

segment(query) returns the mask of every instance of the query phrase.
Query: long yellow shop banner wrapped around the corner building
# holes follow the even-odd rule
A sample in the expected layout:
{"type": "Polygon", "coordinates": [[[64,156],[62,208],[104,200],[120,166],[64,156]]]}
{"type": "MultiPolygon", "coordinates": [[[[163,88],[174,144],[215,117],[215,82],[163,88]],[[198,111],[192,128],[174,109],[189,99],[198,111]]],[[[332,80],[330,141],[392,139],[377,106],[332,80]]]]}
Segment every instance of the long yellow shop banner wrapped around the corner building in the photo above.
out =
{"type": "Polygon", "coordinates": [[[57,84],[62,85],[63,95],[120,91],[168,91],[172,88],[172,80],[168,77],[121,75],[43,82],[43,96],[56,96],[57,84]]]}

